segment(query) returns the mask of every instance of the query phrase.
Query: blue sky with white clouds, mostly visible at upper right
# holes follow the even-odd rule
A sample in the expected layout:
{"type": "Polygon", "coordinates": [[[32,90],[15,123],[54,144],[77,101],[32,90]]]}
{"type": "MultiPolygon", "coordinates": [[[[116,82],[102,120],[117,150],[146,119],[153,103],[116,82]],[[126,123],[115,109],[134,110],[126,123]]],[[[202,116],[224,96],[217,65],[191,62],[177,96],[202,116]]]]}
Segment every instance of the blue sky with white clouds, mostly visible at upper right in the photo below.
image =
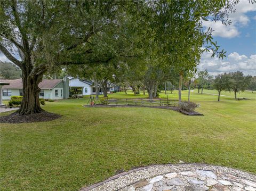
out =
{"type": "MultiPolygon", "coordinates": [[[[211,27],[214,30],[213,40],[217,41],[220,49],[227,51],[227,57],[223,60],[212,58],[211,53],[204,52],[199,70],[207,69],[213,76],[237,70],[256,76],[256,3],[241,0],[235,9],[236,12],[229,15],[232,23],[228,26],[221,21],[203,22],[205,29],[211,27]]],[[[1,53],[0,61],[9,62],[1,53]]]]}

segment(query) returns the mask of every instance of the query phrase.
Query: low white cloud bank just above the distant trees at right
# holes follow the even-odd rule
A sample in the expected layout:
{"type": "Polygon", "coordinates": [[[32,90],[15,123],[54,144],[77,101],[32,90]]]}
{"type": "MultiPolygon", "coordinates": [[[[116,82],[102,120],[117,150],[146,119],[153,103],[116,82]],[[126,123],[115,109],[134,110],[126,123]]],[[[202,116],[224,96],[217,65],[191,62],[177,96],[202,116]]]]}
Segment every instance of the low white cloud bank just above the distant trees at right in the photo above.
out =
{"type": "Polygon", "coordinates": [[[200,70],[207,69],[210,74],[216,75],[223,72],[242,71],[245,75],[256,76],[256,54],[247,57],[239,55],[237,52],[230,53],[226,59],[221,60],[211,57],[211,53],[204,52],[201,63],[198,65],[200,70]]]}

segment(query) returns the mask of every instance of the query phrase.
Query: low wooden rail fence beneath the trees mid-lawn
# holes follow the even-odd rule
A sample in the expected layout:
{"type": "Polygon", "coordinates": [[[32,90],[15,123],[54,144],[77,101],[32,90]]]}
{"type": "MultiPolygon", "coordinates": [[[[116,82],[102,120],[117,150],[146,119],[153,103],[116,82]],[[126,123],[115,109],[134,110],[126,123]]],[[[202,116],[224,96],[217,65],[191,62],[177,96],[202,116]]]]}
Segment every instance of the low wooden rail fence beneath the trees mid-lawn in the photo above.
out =
{"type": "Polygon", "coordinates": [[[133,105],[133,106],[179,106],[178,99],[146,99],[146,98],[107,98],[101,105],[133,105]]]}

